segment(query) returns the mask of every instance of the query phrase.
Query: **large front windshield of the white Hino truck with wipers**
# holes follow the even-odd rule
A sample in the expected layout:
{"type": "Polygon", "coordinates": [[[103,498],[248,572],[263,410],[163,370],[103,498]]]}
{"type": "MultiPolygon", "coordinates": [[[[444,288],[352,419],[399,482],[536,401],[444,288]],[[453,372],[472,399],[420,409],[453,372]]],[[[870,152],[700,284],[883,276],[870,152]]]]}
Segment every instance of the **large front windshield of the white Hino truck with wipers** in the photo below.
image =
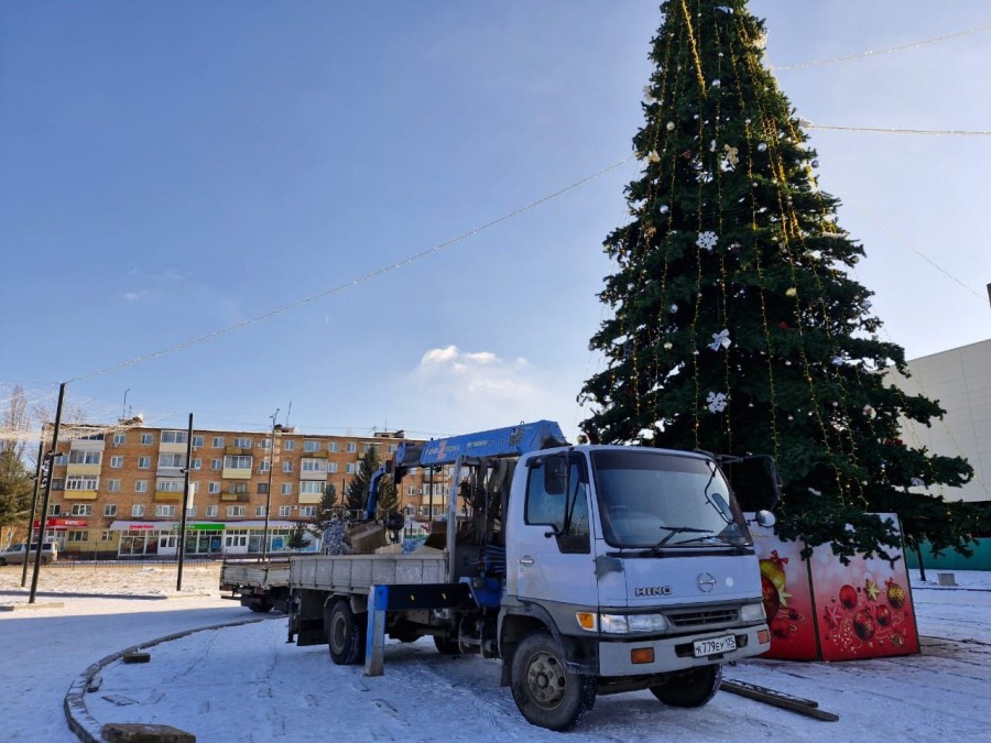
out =
{"type": "Polygon", "coordinates": [[[606,542],[616,547],[747,547],[743,514],[716,465],[650,449],[591,452],[606,542]]]}

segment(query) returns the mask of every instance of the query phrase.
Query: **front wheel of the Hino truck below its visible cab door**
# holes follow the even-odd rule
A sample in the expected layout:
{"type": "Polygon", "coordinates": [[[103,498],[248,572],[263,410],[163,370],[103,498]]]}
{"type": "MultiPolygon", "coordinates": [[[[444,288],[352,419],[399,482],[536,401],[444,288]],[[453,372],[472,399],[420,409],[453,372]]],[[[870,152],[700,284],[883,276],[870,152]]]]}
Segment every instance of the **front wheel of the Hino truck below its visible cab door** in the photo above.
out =
{"type": "Polygon", "coordinates": [[[569,671],[564,660],[554,637],[544,631],[526,635],[513,654],[513,700],[531,724],[570,730],[596,703],[595,677],[569,671]]]}

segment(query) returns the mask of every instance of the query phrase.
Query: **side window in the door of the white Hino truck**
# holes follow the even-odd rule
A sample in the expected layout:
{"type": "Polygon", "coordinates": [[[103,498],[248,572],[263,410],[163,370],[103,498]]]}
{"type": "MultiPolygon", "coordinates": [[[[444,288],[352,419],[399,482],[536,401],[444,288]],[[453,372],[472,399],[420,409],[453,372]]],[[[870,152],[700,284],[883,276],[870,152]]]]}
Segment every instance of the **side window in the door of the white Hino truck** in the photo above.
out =
{"type": "Polygon", "coordinates": [[[588,478],[580,459],[570,458],[568,487],[552,494],[544,488],[543,465],[530,469],[524,518],[527,524],[553,526],[563,553],[590,553],[588,526],[588,478]]]}

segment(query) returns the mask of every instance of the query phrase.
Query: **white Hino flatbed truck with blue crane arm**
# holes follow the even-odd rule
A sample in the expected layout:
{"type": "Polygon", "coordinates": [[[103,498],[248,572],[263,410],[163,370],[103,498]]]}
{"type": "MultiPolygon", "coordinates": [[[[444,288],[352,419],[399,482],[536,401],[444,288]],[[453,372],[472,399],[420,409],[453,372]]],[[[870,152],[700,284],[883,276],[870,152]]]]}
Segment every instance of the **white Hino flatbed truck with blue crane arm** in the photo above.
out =
{"type": "MultiPolygon", "coordinates": [[[[524,718],[551,730],[597,695],[705,704],[723,663],[770,647],[753,539],[714,456],[568,446],[541,420],[406,445],[385,469],[399,483],[438,465],[455,474],[444,549],[292,558],[291,642],[370,666],[381,616],[393,638],[500,658],[524,718]]],[[[759,465],[749,487],[776,493],[759,465]]]]}

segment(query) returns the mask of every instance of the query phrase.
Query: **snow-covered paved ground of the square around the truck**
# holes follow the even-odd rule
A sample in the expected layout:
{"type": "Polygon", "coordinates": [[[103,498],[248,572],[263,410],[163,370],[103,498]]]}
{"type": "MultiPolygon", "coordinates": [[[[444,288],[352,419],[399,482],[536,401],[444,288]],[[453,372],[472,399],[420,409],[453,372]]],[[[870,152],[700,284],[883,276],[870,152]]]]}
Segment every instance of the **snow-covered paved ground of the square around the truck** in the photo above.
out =
{"type": "MultiPolygon", "coordinates": [[[[39,602],[61,609],[0,612],[0,739],[74,741],[62,711],[87,666],[185,629],[255,615],[219,599],[217,566],[46,568],[39,602]]],[[[20,567],[0,568],[0,603],[22,603],[20,567]]],[[[574,741],[989,740],[991,573],[956,572],[957,588],[912,573],[921,655],[847,663],[753,660],[726,677],[815,699],[840,715],[821,722],[721,692],[698,710],[649,692],[601,697],[574,741]]],[[[284,618],[192,634],[150,649],[150,664],[113,663],[86,696],[100,722],[160,722],[199,741],[559,740],[529,725],[498,662],[439,656],[428,641],[385,648],[385,675],[330,663],[326,647],[285,643],[284,618]],[[107,699],[107,698],[110,699],[107,699]],[[127,702],[127,703],[120,703],[127,702]]]]}

